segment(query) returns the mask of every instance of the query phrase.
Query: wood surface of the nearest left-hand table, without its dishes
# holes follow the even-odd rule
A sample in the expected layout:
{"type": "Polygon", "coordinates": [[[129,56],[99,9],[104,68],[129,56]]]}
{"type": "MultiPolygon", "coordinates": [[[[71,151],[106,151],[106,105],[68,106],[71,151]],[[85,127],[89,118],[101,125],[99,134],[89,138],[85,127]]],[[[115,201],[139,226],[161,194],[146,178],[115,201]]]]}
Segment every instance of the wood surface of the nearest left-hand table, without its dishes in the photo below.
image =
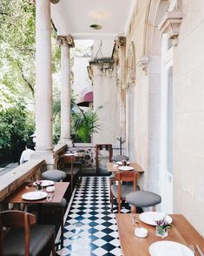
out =
{"type": "MultiPolygon", "coordinates": [[[[63,199],[63,196],[66,192],[66,190],[69,187],[69,182],[55,182],[55,192],[49,192],[50,195],[54,195],[53,199],[52,199],[52,203],[60,203],[63,199]]],[[[12,194],[10,194],[10,196],[8,196],[6,199],[3,200],[3,202],[5,203],[18,203],[18,204],[44,204],[46,203],[45,199],[41,199],[41,200],[24,200],[22,199],[22,195],[26,192],[34,192],[36,191],[35,186],[28,184],[28,183],[24,183],[23,185],[21,185],[18,189],[16,189],[15,192],[13,192],[12,194]]],[[[43,191],[46,192],[46,188],[43,187],[43,191]]],[[[48,202],[50,203],[50,202],[48,202]]]]}

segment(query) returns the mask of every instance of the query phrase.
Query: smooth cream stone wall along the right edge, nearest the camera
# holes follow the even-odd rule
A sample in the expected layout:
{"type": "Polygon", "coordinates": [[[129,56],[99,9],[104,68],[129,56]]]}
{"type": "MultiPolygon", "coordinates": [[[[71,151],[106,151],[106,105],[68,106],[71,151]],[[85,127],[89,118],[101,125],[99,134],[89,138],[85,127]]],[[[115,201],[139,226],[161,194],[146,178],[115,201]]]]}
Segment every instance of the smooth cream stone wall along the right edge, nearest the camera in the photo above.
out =
{"type": "Polygon", "coordinates": [[[183,1],[174,49],[174,212],[204,235],[204,1],[183,1]]]}

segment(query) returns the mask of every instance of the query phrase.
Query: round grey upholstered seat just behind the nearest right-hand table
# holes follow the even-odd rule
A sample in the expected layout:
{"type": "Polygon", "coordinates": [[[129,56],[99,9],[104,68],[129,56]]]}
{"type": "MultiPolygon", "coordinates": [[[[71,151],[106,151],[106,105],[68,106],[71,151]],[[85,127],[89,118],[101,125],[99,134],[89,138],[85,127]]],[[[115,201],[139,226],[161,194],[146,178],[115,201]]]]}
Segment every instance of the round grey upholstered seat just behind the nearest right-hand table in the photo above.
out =
{"type": "Polygon", "coordinates": [[[141,208],[153,206],[153,211],[155,211],[155,205],[161,203],[161,196],[154,192],[137,191],[130,192],[126,197],[126,200],[130,205],[134,205],[134,208],[132,208],[133,211],[135,211],[135,206],[141,208]]]}

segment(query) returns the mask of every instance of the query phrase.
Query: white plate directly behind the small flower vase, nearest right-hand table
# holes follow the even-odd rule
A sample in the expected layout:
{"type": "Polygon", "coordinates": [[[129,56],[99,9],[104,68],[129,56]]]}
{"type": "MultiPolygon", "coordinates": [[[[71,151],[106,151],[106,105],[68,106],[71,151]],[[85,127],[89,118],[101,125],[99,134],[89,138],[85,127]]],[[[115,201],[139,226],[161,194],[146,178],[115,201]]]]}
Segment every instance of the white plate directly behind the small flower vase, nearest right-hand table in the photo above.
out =
{"type": "Polygon", "coordinates": [[[139,215],[139,218],[142,222],[148,225],[156,226],[155,220],[164,219],[165,216],[165,220],[168,222],[168,224],[172,223],[172,218],[163,212],[142,212],[139,215]]]}

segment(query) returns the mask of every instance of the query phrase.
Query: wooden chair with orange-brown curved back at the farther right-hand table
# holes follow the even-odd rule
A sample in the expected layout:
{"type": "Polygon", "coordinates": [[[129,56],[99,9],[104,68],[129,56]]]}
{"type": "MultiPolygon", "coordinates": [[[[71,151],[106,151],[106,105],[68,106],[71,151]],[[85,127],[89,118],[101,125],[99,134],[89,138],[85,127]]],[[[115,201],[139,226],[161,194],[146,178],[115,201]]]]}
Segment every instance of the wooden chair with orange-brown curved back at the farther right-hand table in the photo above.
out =
{"type": "Polygon", "coordinates": [[[111,212],[113,212],[113,199],[117,199],[118,202],[118,212],[121,212],[121,201],[126,199],[126,196],[130,192],[136,191],[137,183],[137,172],[116,172],[115,180],[118,181],[118,185],[110,185],[110,202],[111,202],[111,212]],[[133,182],[131,185],[122,185],[122,182],[133,182]]]}

